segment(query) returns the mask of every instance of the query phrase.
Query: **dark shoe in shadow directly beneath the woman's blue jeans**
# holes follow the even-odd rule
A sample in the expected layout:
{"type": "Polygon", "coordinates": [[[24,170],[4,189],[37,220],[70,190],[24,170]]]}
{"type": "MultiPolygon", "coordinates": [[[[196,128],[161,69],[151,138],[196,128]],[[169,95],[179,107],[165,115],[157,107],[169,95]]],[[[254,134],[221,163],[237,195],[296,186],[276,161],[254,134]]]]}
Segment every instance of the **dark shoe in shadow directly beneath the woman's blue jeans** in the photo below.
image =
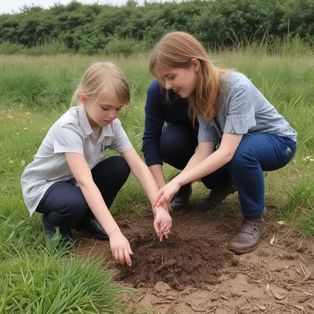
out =
{"type": "Polygon", "coordinates": [[[235,193],[236,187],[230,179],[221,187],[216,187],[195,204],[196,210],[207,211],[219,205],[229,194],[235,193]]]}

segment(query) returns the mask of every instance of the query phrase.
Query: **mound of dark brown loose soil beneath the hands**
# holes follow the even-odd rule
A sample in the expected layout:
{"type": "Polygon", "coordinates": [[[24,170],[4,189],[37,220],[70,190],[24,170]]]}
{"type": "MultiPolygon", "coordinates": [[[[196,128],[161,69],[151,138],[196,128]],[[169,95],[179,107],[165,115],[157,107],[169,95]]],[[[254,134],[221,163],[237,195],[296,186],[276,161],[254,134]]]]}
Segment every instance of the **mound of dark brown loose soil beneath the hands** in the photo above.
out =
{"type": "Polygon", "coordinates": [[[220,283],[220,270],[234,267],[238,261],[234,255],[216,241],[205,237],[186,238],[171,233],[162,242],[155,233],[135,234],[129,239],[134,255],[132,266],[117,264],[120,272],[115,281],[123,281],[134,288],[154,287],[163,281],[175,290],[184,286],[203,287],[220,283]]]}

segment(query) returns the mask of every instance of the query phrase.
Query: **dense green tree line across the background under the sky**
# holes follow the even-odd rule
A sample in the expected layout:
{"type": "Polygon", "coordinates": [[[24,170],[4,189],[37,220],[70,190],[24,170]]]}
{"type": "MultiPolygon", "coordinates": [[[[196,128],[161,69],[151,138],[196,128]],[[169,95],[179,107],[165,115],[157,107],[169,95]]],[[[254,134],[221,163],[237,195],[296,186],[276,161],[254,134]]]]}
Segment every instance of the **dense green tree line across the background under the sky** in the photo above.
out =
{"type": "Polygon", "coordinates": [[[235,39],[262,41],[314,37],[313,0],[193,0],[180,3],[86,5],[72,1],[49,9],[24,6],[19,13],[0,15],[0,43],[34,47],[62,42],[70,51],[95,54],[116,39],[149,45],[166,32],[187,31],[205,46],[235,39]]]}

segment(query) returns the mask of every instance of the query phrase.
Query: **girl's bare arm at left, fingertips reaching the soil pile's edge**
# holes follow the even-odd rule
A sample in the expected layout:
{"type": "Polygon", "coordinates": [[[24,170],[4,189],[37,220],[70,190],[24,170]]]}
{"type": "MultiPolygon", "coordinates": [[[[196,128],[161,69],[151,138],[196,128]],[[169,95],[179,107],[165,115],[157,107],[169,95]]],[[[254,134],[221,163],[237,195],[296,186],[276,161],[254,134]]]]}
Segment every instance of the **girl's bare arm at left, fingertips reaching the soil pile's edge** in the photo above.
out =
{"type": "Polygon", "coordinates": [[[79,153],[65,153],[65,156],[89,208],[109,236],[113,256],[116,258],[117,262],[124,264],[124,261],[126,261],[127,264],[131,266],[130,254],[133,253],[130,244],[122,235],[119,226],[112,218],[111,213],[93,180],[84,155],[79,153]]]}

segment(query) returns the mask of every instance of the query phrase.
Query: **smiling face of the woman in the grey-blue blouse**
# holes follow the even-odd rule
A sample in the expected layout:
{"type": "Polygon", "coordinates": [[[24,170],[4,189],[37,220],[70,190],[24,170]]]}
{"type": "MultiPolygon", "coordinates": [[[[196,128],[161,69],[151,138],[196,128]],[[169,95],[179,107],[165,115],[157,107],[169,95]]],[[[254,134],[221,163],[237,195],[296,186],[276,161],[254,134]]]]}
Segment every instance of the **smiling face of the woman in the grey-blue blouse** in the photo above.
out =
{"type": "Polygon", "coordinates": [[[156,68],[157,74],[164,80],[166,89],[174,90],[182,98],[187,98],[196,88],[197,72],[200,63],[192,59],[189,68],[156,68]]]}

